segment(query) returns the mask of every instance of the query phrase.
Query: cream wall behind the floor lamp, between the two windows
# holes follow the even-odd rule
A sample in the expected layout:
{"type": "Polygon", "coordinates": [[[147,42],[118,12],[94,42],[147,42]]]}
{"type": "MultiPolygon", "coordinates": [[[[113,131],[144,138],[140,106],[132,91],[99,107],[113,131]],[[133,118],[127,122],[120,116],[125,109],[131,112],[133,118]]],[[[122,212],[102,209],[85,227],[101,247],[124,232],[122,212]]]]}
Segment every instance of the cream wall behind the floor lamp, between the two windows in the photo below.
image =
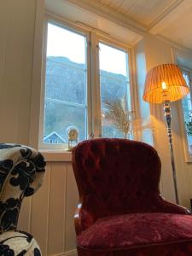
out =
{"type": "MultiPolygon", "coordinates": [[[[163,64],[172,63],[172,46],[166,44],[154,36],[146,34],[143,41],[137,44],[135,48],[136,57],[141,55],[141,44],[143,44],[143,55],[146,60],[146,69],[163,64]]],[[[181,54],[181,52],[180,52],[181,54]]],[[[137,62],[137,76],[140,76],[139,62],[137,62]]],[[[138,90],[143,90],[141,84],[137,84],[138,90]]],[[[180,203],[184,207],[190,207],[190,198],[192,198],[192,166],[184,160],[183,137],[178,115],[178,104],[180,102],[171,103],[172,108],[172,139],[175,154],[175,163],[177,171],[177,189],[180,203]]],[[[154,147],[160,155],[162,172],[160,190],[162,195],[168,201],[175,201],[172,166],[170,158],[170,149],[166,134],[166,123],[163,114],[163,107],[159,104],[150,104],[150,114],[154,121],[154,147]]]]}

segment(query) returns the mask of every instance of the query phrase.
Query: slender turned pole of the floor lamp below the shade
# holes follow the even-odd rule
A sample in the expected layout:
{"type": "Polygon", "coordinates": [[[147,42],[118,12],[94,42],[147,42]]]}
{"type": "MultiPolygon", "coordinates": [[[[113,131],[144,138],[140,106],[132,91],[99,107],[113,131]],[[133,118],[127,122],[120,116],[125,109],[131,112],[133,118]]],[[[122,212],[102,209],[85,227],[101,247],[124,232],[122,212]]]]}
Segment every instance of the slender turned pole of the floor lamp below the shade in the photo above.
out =
{"type": "Polygon", "coordinates": [[[171,114],[170,101],[165,101],[163,103],[163,109],[164,109],[164,116],[166,118],[167,136],[169,138],[169,148],[171,151],[172,177],[173,177],[173,183],[174,183],[174,189],[175,189],[175,197],[176,197],[176,202],[178,204],[179,201],[178,201],[178,193],[177,193],[176,167],[175,167],[175,159],[174,159],[173,147],[172,147],[172,130],[171,130],[172,114],[171,114]]]}

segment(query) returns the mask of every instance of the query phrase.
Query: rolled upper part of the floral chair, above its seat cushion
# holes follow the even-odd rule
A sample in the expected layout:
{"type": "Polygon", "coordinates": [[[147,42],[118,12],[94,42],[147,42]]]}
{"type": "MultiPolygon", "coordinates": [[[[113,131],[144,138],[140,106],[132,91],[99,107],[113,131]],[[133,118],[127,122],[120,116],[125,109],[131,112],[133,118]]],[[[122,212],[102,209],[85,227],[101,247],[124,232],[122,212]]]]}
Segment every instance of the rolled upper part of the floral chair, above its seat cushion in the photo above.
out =
{"type": "Polygon", "coordinates": [[[16,229],[21,202],[42,184],[44,166],[35,149],[0,144],[0,233],[16,229]]]}

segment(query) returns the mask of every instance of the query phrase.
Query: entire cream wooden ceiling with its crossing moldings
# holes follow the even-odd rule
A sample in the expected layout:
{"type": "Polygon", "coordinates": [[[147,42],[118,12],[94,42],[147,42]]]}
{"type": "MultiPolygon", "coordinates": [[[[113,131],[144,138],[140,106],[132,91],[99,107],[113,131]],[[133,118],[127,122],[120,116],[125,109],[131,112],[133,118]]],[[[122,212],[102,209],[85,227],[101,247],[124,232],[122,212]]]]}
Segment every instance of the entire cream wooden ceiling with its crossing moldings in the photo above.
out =
{"type": "Polygon", "coordinates": [[[45,3],[52,10],[57,5],[56,14],[65,13],[72,20],[75,16],[75,21],[113,37],[119,32],[118,38],[131,45],[149,32],[192,50],[192,0],[45,0],[45,3]]]}

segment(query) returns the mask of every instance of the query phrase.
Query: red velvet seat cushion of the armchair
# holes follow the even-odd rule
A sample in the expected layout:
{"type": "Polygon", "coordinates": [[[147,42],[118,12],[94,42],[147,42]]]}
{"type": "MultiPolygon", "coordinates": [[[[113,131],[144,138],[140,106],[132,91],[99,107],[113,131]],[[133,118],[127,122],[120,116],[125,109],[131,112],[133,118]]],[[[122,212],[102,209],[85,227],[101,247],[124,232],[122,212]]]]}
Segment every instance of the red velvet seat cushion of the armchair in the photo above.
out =
{"type": "Polygon", "coordinates": [[[160,246],[191,241],[192,216],[171,213],[131,213],[100,218],[77,237],[88,249],[160,246]]]}

